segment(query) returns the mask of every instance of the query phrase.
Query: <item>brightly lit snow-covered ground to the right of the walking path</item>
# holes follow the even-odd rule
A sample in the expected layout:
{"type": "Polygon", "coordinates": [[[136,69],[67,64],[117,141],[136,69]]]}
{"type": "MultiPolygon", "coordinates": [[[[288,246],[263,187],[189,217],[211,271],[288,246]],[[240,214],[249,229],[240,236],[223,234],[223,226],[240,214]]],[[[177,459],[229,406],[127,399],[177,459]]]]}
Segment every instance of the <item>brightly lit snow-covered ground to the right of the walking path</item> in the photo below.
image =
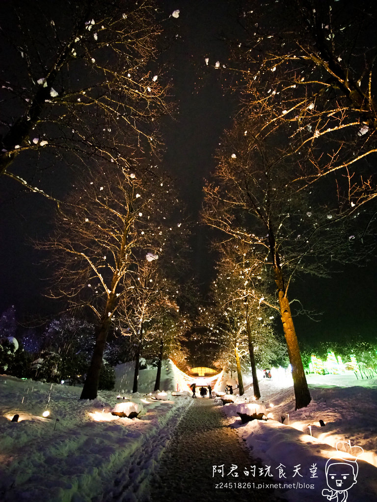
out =
{"type": "MultiPolygon", "coordinates": [[[[262,460],[265,483],[283,486],[288,500],[319,502],[330,500],[327,496],[335,502],[346,500],[346,492],[340,492],[342,486],[331,491],[327,485],[326,462],[332,457],[338,460],[329,460],[329,464],[335,464],[335,469],[342,464],[340,469],[346,469],[348,479],[354,481],[353,472],[357,473],[356,482],[347,491],[348,502],[377,500],[377,379],[357,380],[349,371],[341,375],[310,374],[307,380],[312,402],[304,409],[295,411],[292,378],[276,370],[272,379],[259,381],[261,398],[257,403],[265,406],[267,421],[242,425],[237,415],[237,402],[245,402],[245,398],[255,402],[252,384],[246,386],[242,399],[222,409],[228,417],[234,417],[233,427],[252,455],[262,460]],[[325,425],[321,426],[320,420],[325,425]],[[287,485],[291,486],[287,489],[287,485]],[[328,490],[326,496],[324,489],[328,490]]],[[[329,478],[330,474],[331,468],[329,478]]],[[[239,477],[245,480],[242,472],[239,477]]]]}

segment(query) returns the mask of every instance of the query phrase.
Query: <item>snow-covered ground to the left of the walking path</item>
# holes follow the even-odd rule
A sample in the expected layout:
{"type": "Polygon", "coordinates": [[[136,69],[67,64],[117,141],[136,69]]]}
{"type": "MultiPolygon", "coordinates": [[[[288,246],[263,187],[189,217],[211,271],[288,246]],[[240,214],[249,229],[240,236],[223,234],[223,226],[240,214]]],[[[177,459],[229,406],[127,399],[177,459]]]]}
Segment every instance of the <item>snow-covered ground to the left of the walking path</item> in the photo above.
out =
{"type": "MultiPolygon", "coordinates": [[[[130,392],[133,368],[133,363],[117,366],[115,391],[99,391],[93,401],[80,400],[79,387],[0,375],[2,502],[100,502],[113,500],[120,482],[133,493],[142,489],[140,476],[153,471],[192,400],[170,360],[164,361],[161,371],[164,400],[149,395],[155,367],[140,370],[140,392],[130,392]],[[171,395],[182,389],[175,392],[179,395],[171,395]],[[138,418],[113,416],[111,411],[119,404],[140,411],[138,418]],[[46,409],[50,416],[42,418],[46,409]],[[19,420],[12,422],[16,414],[19,420]]],[[[129,500],[129,496],[118,494],[114,500],[129,500]]]]}

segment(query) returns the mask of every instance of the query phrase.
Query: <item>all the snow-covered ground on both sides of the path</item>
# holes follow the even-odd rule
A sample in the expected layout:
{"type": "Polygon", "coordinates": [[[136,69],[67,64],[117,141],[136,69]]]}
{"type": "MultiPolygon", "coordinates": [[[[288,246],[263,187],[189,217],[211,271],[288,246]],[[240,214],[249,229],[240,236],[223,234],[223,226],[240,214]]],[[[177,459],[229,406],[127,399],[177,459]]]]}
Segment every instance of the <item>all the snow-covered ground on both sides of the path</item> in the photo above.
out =
{"type": "MultiPolygon", "coordinates": [[[[148,499],[149,475],[155,471],[172,431],[193,400],[188,392],[180,396],[169,393],[177,388],[187,389],[182,373],[171,361],[163,367],[161,391],[166,395],[157,396],[162,400],[153,400],[149,395],[156,368],[140,371],[140,392],[136,395],[129,392],[132,370],[131,364],[119,366],[115,391],[101,391],[95,401],[80,401],[81,389],[77,387],[1,375],[0,500],[148,499]],[[121,399],[117,399],[119,395],[121,399]],[[116,404],[130,402],[140,411],[138,418],[111,415],[116,404]],[[50,411],[47,419],[41,416],[46,408],[50,411]],[[15,414],[20,415],[18,422],[11,421],[15,414]]],[[[228,383],[227,378],[222,380],[222,387],[228,383]]],[[[245,381],[246,394],[238,401],[244,403],[248,398],[252,403],[252,385],[247,383],[247,375],[245,381]]],[[[335,501],[336,495],[339,501],[345,500],[345,493],[348,502],[377,500],[377,379],[360,381],[349,373],[308,375],[308,382],[313,401],[303,410],[294,410],[292,380],[276,372],[272,372],[271,380],[260,380],[259,403],[267,409],[267,421],[253,420],[242,425],[236,403],[225,405],[222,410],[252,454],[262,460],[265,484],[291,485],[284,488],[290,501],[327,500],[323,489],[328,489],[327,494],[334,495],[335,501]],[[284,423],[281,417],[285,417],[284,423]],[[321,427],[319,420],[325,425],[321,427]],[[346,450],[346,443],[350,442],[352,447],[359,446],[364,451],[357,459],[357,484],[342,495],[330,491],[325,474],[326,461],[336,455],[340,441],[343,443],[338,444],[339,449],[346,450]]],[[[360,452],[353,449],[351,453],[360,452]]],[[[338,455],[347,457],[344,451],[338,455]]],[[[355,462],[341,462],[349,472],[355,470],[355,462]]],[[[231,464],[229,458],[225,469],[231,470],[231,464]]],[[[224,470],[224,477],[217,481],[253,482],[252,469],[246,475],[244,467],[237,466],[238,479],[233,477],[237,471],[233,469],[228,478],[224,470]]]]}

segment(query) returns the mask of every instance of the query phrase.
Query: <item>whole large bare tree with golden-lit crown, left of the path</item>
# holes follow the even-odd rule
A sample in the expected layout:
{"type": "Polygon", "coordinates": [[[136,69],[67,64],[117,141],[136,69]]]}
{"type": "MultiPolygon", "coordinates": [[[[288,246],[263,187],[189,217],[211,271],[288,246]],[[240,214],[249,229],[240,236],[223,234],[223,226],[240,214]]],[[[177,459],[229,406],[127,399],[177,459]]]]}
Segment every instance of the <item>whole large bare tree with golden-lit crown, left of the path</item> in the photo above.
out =
{"type": "MultiPolygon", "coordinates": [[[[39,243],[55,266],[52,294],[71,306],[89,307],[97,319],[82,399],[97,396],[109,328],[129,293],[135,263],[142,253],[161,253],[169,241],[174,204],[172,187],[156,167],[139,168],[137,175],[119,166],[100,170],[75,186],[58,209],[55,231],[39,243]]],[[[180,210],[174,214],[179,218],[180,210]]]]}

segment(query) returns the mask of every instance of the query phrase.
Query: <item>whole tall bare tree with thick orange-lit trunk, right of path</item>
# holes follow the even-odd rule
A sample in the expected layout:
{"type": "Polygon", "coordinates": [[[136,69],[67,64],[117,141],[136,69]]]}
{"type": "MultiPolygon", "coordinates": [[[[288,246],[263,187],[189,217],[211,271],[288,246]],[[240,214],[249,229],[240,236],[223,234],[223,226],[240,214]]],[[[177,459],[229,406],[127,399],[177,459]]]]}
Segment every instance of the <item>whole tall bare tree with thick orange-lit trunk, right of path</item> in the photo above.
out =
{"type": "Polygon", "coordinates": [[[225,135],[214,179],[204,188],[203,217],[207,224],[247,243],[255,258],[271,267],[296,407],[302,408],[311,398],[288,299],[290,282],[303,272],[327,275],[330,260],[359,257],[350,249],[355,234],[346,233],[353,221],[339,214],[336,195],[327,206],[321,204],[326,200],[323,187],[307,184],[299,155],[285,155],[278,141],[270,141],[272,136],[261,142],[256,137],[260,127],[258,117],[240,117],[225,135]]]}

